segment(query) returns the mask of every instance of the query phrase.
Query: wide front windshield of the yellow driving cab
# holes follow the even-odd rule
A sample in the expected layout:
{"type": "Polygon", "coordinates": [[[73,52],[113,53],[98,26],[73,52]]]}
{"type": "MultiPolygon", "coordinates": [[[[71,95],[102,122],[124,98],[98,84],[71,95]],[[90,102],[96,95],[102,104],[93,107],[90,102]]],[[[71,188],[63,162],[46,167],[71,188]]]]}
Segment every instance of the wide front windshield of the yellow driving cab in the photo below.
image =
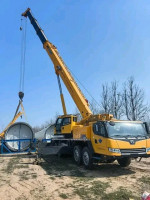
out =
{"type": "Polygon", "coordinates": [[[142,123],[107,123],[107,129],[109,137],[142,137],[147,135],[145,126],[142,123]]]}

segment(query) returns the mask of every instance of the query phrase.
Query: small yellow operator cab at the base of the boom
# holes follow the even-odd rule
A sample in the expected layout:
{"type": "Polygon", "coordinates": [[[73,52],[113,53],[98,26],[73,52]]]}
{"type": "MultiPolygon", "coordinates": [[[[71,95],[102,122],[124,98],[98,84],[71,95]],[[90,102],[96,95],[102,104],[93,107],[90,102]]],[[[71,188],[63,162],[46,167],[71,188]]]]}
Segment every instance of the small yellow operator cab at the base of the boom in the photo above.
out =
{"type": "Polygon", "coordinates": [[[55,123],[56,135],[64,135],[65,138],[72,137],[72,129],[77,123],[77,116],[75,115],[62,115],[59,116],[55,123]]]}

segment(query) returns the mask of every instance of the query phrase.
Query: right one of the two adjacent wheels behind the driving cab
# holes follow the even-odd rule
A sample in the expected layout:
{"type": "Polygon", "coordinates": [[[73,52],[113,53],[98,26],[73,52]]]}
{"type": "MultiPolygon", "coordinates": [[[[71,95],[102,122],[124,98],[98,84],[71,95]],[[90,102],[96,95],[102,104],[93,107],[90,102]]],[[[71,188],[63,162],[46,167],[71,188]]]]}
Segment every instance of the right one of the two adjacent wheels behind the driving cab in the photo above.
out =
{"type": "Polygon", "coordinates": [[[84,147],[82,151],[82,160],[86,169],[91,169],[93,166],[92,154],[88,147],[84,147]]]}

